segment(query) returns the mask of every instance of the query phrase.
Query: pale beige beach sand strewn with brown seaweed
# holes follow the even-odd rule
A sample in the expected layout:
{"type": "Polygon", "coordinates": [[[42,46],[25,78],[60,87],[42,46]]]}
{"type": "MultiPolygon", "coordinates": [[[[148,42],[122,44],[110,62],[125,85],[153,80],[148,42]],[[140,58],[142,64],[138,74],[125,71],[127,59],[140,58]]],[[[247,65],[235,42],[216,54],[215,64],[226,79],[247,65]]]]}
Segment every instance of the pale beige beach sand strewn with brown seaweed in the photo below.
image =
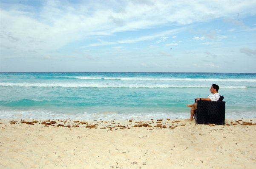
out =
{"type": "Polygon", "coordinates": [[[185,119],[35,120],[29,125],[21,121],[34,120],[0,119],[1,169],[256,168],[256,125],[248,125],[256,124],[255,118],[226,119],[226,125],[185,119]],[[152,127],[132,127],[143,124],[152,127]]]}

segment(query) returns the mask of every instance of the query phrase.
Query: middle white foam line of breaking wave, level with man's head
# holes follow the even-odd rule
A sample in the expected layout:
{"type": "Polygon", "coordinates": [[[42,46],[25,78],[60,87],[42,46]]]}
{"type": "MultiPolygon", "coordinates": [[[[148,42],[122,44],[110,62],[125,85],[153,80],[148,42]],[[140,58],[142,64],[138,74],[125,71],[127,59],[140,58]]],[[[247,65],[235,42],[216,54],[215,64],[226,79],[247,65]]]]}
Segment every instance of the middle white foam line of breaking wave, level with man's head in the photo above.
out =
{"type": "MultiPolygon", "coordinates": [[[[95,87],[95,88],[208,88],[207,85],[168,84],[104,84],[104,83],[0,83],[0,86],[18,87],[95,87]]],[[[221,89],[246,89],[247,86],[220,86],[221,89]]]]}

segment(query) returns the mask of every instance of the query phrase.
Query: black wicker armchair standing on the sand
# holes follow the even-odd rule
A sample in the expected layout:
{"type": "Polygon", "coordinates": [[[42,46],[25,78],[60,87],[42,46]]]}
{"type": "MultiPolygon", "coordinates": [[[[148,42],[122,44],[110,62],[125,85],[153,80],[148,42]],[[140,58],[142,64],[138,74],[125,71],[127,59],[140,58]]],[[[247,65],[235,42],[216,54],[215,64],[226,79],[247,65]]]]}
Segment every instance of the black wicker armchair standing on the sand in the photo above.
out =
{"type": "Polygon", "coordinates": [[[223,99],[224,97],[220,96],[219,101],[198,100],[194,115],[196,124],[224,125],[226,102],[223,102],[223,99]]]}

